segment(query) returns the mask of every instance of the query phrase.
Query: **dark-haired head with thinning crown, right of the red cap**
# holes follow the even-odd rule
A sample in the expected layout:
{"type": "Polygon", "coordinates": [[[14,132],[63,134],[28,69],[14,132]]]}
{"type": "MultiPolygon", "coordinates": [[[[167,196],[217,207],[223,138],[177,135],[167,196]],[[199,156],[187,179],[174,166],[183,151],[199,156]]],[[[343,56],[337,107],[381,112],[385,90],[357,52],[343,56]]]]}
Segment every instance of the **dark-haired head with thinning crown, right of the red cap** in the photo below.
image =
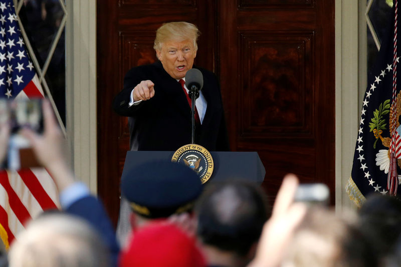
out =
{"type": "Polygon", "coordinates": [[[209,264],[245,266],[255,254],[270,209],[260,186],[231,180],[209,184],[194,214],[209,264]]]}

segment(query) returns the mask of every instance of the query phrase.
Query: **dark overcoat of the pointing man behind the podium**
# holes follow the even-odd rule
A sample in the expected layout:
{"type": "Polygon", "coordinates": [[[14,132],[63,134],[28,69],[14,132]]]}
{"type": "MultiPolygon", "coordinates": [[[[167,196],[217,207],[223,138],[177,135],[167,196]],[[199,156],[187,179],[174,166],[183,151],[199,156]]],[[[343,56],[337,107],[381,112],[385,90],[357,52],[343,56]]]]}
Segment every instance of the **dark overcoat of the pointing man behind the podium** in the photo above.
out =
{"type": "MultiPolygon", "coordinates": [[[[208,104],[202,126],[196,130],[195,143],[209,151],[228,151],[217,78],[212,72],[197,69],[204,77],[202,92],[208,104]]],[[[191,142],[191,113],[186,96],[181,85],[163,69],[160,61],[127,72],[124,89],[114,98],[113,109],[119,115],[129,117],[131,150],[175,151],[191,142]],[[132,89],[144,80],[154,83],[154,97],[128,107],[132,89]]]]}

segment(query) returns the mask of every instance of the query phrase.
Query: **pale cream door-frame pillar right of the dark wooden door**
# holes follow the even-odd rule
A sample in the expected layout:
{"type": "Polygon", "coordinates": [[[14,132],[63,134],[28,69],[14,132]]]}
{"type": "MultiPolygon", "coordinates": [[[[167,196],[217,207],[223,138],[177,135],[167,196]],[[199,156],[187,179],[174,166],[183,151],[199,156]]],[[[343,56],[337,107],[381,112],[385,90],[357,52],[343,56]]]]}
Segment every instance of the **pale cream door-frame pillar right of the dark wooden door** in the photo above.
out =
{"type": "Polygon", "coordinates": [[[355,205],[345,192],[351,175],[359,122],[359,99],[366,88],[366,1],[335,1],[336,210],[355,205]]]}

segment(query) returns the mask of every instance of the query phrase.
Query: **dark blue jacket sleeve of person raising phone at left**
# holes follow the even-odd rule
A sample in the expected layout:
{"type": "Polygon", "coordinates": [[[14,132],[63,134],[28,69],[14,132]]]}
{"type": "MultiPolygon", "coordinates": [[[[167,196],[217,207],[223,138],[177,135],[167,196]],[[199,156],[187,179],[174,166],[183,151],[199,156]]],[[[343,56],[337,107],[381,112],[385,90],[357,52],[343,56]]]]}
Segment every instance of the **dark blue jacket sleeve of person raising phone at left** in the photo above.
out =
{"type": "Polygon", "coordinates": [[[92,195],[88,195],[73,202],[65,212],[85,219],[99,232],[106,246],[109,248],[112,266],[117,266],[120,247],[117,244],[110,218],[100,200],[92,195]]]}

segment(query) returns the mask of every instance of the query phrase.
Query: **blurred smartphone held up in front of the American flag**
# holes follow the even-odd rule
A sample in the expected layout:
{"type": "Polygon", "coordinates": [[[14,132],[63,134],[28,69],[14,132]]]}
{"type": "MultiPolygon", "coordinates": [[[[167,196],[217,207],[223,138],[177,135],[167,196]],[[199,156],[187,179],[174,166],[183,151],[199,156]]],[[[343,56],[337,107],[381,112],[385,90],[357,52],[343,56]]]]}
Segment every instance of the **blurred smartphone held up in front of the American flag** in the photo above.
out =
{"type": "Polygon", "coordinates": [[[26,127],[43,133],[42,99],[0,99],[0,123],[11,127],[7,159],[0,165],[11,170],[39,167],[29,141],[19,131],[26,127]]]}

